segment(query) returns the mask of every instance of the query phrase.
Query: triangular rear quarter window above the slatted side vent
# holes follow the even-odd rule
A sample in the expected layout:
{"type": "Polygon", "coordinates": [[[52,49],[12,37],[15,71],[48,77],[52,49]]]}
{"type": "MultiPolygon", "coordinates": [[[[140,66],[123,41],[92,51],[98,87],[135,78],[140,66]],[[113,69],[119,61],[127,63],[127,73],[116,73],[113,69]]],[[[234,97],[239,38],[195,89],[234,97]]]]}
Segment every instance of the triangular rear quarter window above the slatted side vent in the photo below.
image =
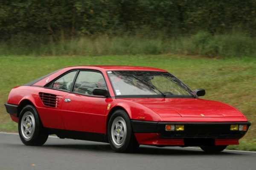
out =
{"type": "Polygon", "coordinates": [[[72,71],[68,74],[65,74],[61,78],[55,80],[54,82],[49,84],[48,87],[70,91],[72,88],[72,84],[75,76],[76,76],[76,71],[72,71]]]}

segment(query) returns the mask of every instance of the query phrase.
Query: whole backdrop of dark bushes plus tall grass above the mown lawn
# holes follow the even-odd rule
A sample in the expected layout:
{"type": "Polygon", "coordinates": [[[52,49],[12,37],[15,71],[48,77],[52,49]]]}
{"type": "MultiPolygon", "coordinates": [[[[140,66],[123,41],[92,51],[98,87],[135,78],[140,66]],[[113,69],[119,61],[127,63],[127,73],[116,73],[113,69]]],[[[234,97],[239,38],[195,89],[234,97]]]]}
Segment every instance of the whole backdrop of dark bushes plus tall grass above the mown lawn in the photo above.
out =
{"type": "Polygon", "coordinates": [[[0,54],[256,55],[256,0],[12,0],[0,6],[0,54]]]}

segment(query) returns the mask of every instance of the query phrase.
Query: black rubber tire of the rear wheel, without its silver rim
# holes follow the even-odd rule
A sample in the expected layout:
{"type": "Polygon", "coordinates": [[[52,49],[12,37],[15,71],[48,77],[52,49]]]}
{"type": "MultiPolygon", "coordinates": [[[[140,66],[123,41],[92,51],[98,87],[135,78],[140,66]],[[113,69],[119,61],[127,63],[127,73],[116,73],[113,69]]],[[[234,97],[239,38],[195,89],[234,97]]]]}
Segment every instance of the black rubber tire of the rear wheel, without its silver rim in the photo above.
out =
{"type": "Polygon", "coordinates": [[[30,145],[30,146],[43,145],[47,141],[48,136],[49,136],[48,133],[44,131],[41,120],[38,116],[38,112],[36,111],[35,107],[32,105],[26,105],[21,110],[20,116],[19,116],[18,130],[19,130],[20,140],[23,142],[23,144],[30,145]],[[25,113],[29,114],[31,116],[34,116],[34,124],[35,124],[34,130],[33,130],[33,133],[31,133],[31,137],[29,137],[29,138],[26,135],[24,135],[25,128],[21,127],[21,126],[23,126],[22,121],[23,121],[23,116],[25,115],[25,113]],[[21,128],[24,128],[24,129],[22,130],[21,128]]]}

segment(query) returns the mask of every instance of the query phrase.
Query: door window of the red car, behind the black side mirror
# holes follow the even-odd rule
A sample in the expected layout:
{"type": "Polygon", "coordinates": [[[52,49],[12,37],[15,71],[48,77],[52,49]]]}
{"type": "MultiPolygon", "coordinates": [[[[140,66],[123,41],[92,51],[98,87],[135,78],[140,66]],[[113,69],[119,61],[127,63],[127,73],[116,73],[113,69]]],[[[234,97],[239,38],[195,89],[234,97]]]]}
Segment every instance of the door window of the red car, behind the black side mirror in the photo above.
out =
{"type": "Polygon", "coordinates": [[[76,93],[93,95],[94,88],[107,89],[102,74],[95,71],[80,71],[73,91],[76,93]]]}

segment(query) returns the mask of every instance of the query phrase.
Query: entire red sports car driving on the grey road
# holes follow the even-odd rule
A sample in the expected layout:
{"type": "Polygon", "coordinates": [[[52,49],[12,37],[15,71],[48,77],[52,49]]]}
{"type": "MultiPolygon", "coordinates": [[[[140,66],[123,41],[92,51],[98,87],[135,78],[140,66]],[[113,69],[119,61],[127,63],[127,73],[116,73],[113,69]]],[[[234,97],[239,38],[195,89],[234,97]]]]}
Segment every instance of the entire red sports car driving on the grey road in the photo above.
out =
{"type": "Polygon", "coordinates": [[[213,153],[239,144],[250,122],[230,105],[198,98],[204,94],[158,68],[76,66],[13,88],[5,106],[26,145],[49,134],[109,142],[118,152],[145,144],[213,153]]]}

